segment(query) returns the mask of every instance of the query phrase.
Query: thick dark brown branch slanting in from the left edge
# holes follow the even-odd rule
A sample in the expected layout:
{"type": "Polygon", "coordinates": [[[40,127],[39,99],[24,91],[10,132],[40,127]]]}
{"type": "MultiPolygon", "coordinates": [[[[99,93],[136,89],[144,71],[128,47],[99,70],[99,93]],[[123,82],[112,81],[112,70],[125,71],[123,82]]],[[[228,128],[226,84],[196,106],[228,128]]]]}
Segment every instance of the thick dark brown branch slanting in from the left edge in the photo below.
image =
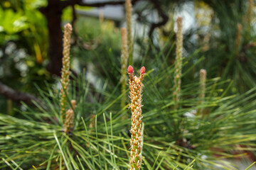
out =
{"type": "Polygon", "coordinates": [[[41,103],[41,101],[36,98],[35,96],[31,94],[27,94],[21,91],[16,91],[14,89],[11,89],[11,87],[6,86],[5,84],[2,84],[0,82],[0,94],[3,96],[6,96],[6,98],[10,98],[12,101],[16,101],[18,103],[21,103],[23,101],[24,103],[28,105],[34,105],[32,101],[36,101],[36,103],[41,103]]]}

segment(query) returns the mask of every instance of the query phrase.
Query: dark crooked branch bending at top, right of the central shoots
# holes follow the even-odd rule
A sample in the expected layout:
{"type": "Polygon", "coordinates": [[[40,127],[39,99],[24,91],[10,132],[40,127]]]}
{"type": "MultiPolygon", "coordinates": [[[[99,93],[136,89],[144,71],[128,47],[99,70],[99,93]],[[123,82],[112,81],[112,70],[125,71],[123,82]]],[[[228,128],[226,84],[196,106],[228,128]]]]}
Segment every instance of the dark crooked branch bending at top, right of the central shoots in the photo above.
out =
{"type": "Polygon", "coordinates": [[[158,28],[158,27],[161,27],[161,26],[164,26],[169,21],[169,17],[161,9],[161,6],[160,6],[158,1],[156,1],[156,0],[149,0],[149,1],[151,1],[151,3],[154,4],[154,7],[156,8],[156,10],[158,11],[159,15],[162,18],[162,21],[160,21],[158,23],[151,23],[151,27],[150,27],[150,30],[149,30],[149,38],[151,38],[154,29],[158,28]]]}

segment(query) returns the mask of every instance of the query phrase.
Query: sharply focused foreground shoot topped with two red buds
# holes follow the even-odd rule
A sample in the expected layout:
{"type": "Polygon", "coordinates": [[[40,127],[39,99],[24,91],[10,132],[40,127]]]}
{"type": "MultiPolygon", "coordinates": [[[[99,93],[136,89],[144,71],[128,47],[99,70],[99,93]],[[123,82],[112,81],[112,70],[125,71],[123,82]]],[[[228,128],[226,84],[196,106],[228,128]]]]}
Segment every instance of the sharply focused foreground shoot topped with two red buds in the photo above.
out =
{"type": "Polygon", "coordinates": [[[129,74],[129,95],[131,103],[129,108],[132,112],[132,128],[131,128],[131,159],[130,170],[139,170],[142,167],[142,80],[146,72],[145,67],[140,69],[140,76],[134,77],[132,66],[128,67],[129,74]]]}

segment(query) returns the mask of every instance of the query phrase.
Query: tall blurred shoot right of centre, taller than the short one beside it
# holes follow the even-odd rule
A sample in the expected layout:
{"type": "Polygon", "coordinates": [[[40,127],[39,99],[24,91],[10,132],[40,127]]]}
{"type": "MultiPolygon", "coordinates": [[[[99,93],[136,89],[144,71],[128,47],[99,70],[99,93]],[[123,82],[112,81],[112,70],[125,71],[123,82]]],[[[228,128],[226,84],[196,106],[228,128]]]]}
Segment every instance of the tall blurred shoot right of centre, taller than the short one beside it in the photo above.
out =
{"type": "Polygon", "coordinates": [[[182,35],[182,17],[177,18],[178,30],[176,33],[176,61],[174,72],[174,111],[178,109],[178,102],[181,96],[181,69],[182,69],[182,50],[183,50],[183,35],[182,35]]]}

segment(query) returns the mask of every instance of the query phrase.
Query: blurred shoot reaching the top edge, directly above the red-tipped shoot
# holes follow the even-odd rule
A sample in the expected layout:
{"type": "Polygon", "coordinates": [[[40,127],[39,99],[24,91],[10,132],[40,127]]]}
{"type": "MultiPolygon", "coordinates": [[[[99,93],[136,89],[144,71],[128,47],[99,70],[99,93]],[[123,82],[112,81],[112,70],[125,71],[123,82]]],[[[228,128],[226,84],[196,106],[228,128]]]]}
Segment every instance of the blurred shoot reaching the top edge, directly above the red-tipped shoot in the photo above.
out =
{"type": "Polygon", "coordinates": [[[125,13],[127,22],[127,40],[128,40],[128,51],[129,51],[129,64],[133,64],[132,53],[133,53],[133,41],[132,41],[132,2],[131,0],[125,1],[125,13]]]}

